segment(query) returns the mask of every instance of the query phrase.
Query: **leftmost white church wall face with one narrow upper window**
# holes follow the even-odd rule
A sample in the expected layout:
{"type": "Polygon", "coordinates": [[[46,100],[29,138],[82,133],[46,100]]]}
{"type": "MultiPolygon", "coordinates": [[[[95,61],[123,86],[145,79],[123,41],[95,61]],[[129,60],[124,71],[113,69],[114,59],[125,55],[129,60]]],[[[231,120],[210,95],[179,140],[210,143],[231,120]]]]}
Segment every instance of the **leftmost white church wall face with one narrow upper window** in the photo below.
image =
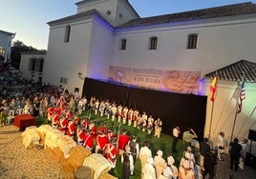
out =
{"type": "Polygon", "coordinates": [[[64,88],[74,92],[82,90],[83,80],[78,72],[87,74],[88,56],[92,31],[92,20],[84,20],[56,26],[50,30],[47,60],[44,70],[44,81],[60,85],[60,77],[68,78],[64,88]],[[65,28],[71,26],[70,41],[64,43],[65,28]]]}

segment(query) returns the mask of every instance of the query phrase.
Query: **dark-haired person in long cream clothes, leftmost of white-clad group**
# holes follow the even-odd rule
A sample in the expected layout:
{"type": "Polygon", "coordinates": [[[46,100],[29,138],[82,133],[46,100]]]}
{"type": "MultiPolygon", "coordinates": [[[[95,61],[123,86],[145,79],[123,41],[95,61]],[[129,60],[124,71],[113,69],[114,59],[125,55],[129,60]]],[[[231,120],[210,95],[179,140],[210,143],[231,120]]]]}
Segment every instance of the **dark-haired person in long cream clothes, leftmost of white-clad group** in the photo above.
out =
{"type": "Polygon", "coordinates": [[[143,147],[139,150],[139,160],[141,164],[141,178],[143,178],[143,171],[148,158],[152,158],[152,151],[149,149],[149,141],[143,142],[143,147]]]}

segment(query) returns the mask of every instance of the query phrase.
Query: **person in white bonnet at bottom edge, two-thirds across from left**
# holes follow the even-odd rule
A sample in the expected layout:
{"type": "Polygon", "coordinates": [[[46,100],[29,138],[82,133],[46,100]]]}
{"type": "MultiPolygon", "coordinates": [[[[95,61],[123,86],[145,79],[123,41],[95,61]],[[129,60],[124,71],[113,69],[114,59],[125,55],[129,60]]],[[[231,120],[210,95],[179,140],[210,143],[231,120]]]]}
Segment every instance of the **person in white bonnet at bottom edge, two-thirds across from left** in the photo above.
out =
{"type": "Polygon", "coordinates": [[[167,167],[162,171],[163,176],[165,176],[166,178],[174,178],[174,179],[178,178],[179,171],[177,167],[174,165],[174,163],[175,163],[175,160],[173,156],[169,156],[167,158],[167,167]]]}

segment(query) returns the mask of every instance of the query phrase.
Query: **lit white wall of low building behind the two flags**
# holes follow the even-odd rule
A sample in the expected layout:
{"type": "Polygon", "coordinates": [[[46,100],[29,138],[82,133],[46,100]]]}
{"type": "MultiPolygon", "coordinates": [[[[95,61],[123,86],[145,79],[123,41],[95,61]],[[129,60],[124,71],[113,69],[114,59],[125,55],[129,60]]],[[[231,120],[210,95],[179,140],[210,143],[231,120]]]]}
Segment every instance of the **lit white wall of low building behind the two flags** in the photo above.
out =
{"type": "MultiPolygon", "coordinates": [[[[208,84],[209,89],[211,81],[208,84]]],[[[208,137],[210,133],[210,139],[215,144],[220,131],[224,131],[225,138],[230,142],[233,126],[232,139],[237,137],[239,140],[248,137],[249,129],[256,129],[256,84],[245,83],[243,109],[236,115],[240,89],[241,83],[218,81],[214,104],[209,100],[211,93],[208,91],[204,136],[208,137]]],[[[256,153],[256,148],[252,149],[256,153]]]]}

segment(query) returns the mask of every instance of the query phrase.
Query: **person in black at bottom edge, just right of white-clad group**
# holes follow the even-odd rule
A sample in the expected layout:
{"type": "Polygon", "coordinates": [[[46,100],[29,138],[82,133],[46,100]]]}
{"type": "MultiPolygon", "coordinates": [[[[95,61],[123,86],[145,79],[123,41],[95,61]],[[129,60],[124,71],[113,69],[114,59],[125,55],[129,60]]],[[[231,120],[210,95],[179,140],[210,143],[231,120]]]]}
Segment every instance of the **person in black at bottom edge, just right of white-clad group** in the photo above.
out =
{"type": "Polygon", "coordinates": [[[213,179],[214,175],[215,175],[215,166],[217,165],[217,157],[216,154],[213,152],[208,152],[205,156],[204,156],[204,171],[203,171],[203,178],[205,178],[205,176],[207,174],[209,174],[209,179],[213,179]]]}

